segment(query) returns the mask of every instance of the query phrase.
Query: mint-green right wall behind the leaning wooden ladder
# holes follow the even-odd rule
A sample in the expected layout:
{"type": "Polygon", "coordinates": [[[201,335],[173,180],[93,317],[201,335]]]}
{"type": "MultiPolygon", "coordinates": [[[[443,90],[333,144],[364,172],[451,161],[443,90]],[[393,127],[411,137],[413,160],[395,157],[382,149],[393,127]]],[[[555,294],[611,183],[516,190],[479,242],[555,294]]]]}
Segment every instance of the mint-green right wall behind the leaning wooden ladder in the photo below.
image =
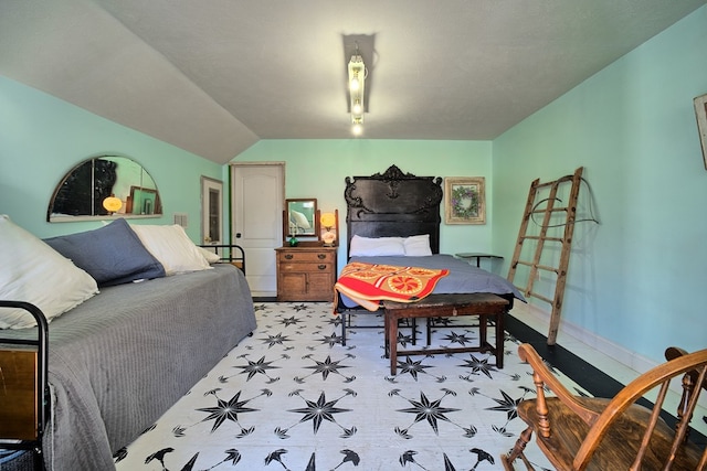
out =
{"type": "Polygon", "coordinates": [[[530,181],[583,165],[601,224],[577,225],[562,319],[655,361],[668,345],[707,342],[697,296],[707,171],[693,106],[706,93],[703,7],[494,140],[493,248],[504,271],[530,181]]]}

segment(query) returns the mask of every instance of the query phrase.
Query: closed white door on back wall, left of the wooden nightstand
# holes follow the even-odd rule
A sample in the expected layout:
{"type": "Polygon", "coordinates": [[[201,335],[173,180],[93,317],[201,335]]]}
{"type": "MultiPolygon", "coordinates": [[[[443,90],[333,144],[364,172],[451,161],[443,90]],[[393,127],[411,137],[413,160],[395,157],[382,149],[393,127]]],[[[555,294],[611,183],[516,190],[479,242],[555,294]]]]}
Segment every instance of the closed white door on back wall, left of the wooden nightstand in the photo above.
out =
{"type": "Polygon", "coordinates": [[[254,297],[274,297],[275,248],[283,245],[284,163],[234,163],[231,172],[231,231],[245,250],[245,278],[254,297]]]}

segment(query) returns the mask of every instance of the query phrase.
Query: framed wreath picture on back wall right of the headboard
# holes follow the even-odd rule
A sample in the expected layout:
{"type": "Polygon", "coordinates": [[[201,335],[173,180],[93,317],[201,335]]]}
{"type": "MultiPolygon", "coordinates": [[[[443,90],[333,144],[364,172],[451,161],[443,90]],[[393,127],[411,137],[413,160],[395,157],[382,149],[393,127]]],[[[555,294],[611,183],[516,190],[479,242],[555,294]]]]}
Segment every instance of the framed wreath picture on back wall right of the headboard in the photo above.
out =
{"type": "Polygon", "coordinates": [[[486,224],[483,176],[444,179],[444,223],[486,224]]]}

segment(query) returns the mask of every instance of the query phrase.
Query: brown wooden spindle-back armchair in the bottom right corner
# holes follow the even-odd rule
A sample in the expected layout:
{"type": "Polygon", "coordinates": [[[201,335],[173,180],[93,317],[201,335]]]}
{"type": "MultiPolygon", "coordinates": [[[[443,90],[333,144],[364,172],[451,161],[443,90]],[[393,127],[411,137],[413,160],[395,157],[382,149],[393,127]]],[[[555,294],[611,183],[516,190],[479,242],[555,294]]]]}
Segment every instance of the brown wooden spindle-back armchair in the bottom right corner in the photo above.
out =
{"type": "Polygon", "coordinates": [[[668,349],[668,362],[642,374],[613,398],[572,395],[528,344],[518,347],[520,360],[534,370],[535,399],[518,405],[518,416],[528,424],[515,447],[502,456],[504,468],[513,470],[520,458],[531,464],[524,449],[532,432],[542,452],[558,470],[705,470],[707,450],[687,440],[687,431],[699,393],[707,385],[707,350],[687,354],[668,349]],[[683,378],[683,403],[675,429],[661,417],[671,379],[683,378]],[[556,397],[546,397],[548,387],[556,397]],[[636,404],[656,390],[652,409],[636,404]]]}

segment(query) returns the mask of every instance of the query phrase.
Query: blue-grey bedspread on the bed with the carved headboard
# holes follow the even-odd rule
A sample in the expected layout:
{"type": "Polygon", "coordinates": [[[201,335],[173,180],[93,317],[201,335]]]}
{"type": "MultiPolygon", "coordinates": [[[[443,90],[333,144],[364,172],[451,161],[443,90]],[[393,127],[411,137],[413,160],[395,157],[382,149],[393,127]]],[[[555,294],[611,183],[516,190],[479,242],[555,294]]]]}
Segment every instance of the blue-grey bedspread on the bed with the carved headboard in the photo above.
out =
{"type": "MultiPolygon", "coordinates": [[[[394,265],[401,267],[446,268],[450,274],[437,281],[432,293],[493,292],[494,295],[513,295],[525,301],[525,298],[507,279],[451,255],[432,255],[428,257],[351,257],[349,261],[363,264],[394,265]]],[[[358,304],[341,295],[344,306],[354,308],[358,304]]]]}

